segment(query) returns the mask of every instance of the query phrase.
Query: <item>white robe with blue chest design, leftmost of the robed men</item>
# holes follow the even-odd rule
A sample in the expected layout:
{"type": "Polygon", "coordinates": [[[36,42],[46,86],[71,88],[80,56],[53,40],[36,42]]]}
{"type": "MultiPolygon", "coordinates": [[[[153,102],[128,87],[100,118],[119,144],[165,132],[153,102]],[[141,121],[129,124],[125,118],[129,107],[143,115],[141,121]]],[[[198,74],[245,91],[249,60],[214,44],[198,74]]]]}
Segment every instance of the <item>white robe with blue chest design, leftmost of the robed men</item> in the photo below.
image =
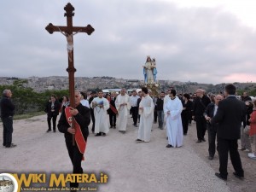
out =
{"type": "Polygon", "coordinates": [[[108,113],[107,110],[109,108],[109,102],[106,98],[96,97],[90,103],[90,108],[93,108],[94,116],[95,116],[95,133],[103,132],[108,133],[108,113]],[[95,107],[93,108],[93,103],[100,104],[103,102],[104,108],[95,107]]]}

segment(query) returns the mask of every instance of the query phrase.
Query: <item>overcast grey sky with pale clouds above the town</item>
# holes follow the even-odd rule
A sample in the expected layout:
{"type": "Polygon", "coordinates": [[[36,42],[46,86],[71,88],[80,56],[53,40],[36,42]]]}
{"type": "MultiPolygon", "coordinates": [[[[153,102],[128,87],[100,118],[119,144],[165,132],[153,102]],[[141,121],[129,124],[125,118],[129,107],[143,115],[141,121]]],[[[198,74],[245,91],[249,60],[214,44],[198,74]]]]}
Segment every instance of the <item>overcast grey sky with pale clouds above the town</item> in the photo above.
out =
{"type": "Polygon", "coordinates": [[[74,38],[77,77],[143,79],[147,55],[157,79],[256,82],[255,0],[9,0],[0,3],[1,77],[67,76],[66,26],[95,28],[74,38]]]}

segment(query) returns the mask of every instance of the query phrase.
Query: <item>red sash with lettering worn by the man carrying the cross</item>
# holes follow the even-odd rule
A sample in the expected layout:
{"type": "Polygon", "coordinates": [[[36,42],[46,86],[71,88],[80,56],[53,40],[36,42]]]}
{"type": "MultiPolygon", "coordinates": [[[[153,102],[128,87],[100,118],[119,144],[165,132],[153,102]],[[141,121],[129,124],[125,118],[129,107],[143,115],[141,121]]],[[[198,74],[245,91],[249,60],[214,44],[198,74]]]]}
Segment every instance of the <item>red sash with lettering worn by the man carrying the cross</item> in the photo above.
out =
{"type": "MultiPolygon", "coordinates": [[[[67,123],[72,127],[72,115],[70,113],[69,107],[65,108],[65,114],[66,114],[66,118],[67,118],[67,123]]],[[[84,136],[81,131],[81,127],[80,127],[79,123],[76,121],[76,119],[73,119],[73,122],[74,122],[74,129],[76,131],[75,132],[75,142],[78,145],[80,153],[83,154],[82,160],[84,160],[84,152],[85,152],[85,148],[86,148],[86,142],[84,140],[84,136]]]]}

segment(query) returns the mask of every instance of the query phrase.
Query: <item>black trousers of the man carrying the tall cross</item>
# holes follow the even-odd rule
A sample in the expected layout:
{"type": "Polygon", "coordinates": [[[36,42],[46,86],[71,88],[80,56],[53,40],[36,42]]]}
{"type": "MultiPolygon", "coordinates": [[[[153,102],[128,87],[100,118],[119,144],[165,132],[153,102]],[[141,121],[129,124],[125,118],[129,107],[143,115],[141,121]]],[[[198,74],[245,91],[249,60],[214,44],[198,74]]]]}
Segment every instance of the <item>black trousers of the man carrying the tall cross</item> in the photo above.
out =
{"type": "MultiPolygon", "coordinates": [[[[83,154],[80,153],[77,144],[75,144],[75,146],[73,146],[72,141],[66,141],[66,146],[67,146],[69,158],[73,164],[73,173],[82,174],[83,168],[81,166],[81,163],[82,163],[82,159],[83,159],[83,154]]],[[[72,188],[72,187],[78,188],[79,183],[77,183],[77,182],[70,183],[70,188],[72,188]]]]}

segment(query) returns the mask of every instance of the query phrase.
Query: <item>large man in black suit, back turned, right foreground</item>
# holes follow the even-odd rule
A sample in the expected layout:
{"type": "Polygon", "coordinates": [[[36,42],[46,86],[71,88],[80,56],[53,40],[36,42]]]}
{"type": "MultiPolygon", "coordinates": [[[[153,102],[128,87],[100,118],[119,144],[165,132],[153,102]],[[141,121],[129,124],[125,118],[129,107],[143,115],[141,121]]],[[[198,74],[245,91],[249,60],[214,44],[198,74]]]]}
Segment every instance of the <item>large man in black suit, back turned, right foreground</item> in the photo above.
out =
{"type": "Polygon", "coordinates": [[[228,84],[225,86],[226,99],[218,103],[218,111],[211,119],[211,124],[218,123],[217,141],[219,156],[219,173],[215,175],[227,180],[228,155],[235,169],[233,173],[238,178],[244,177],[241,166],[240,154],[238,153],[237,140],[240,138],[241,122],[245,119],[246,105],[236,99],[236,86],[228,84]]]}

